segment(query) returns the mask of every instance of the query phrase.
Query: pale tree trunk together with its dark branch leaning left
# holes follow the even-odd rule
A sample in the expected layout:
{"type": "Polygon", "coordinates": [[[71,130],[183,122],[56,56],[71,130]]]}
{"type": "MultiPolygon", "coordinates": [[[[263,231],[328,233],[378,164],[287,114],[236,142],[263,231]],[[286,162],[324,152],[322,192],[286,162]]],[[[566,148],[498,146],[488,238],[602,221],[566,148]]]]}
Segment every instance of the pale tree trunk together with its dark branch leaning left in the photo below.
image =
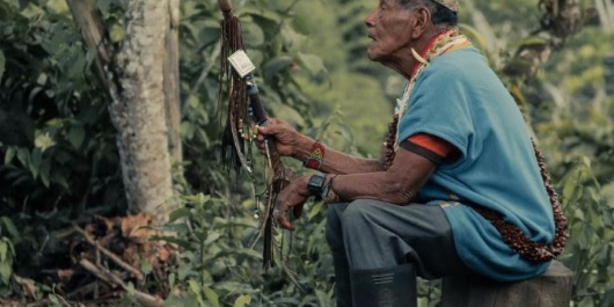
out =
{"type": "Polygon", "coordinates": [[[126,38],[117,53],[106,43],[104,22],[91,2],[68,0],[68,4],[86,45],[98,48],[96,68],[112,98],[109,110],[118,132],[130,211],[164,222],[174,207],[169,149],[181,157],[179,113],[167,115],[179,109],[179,62],[173,38],[179,1],[128,1],[126,38]]]}

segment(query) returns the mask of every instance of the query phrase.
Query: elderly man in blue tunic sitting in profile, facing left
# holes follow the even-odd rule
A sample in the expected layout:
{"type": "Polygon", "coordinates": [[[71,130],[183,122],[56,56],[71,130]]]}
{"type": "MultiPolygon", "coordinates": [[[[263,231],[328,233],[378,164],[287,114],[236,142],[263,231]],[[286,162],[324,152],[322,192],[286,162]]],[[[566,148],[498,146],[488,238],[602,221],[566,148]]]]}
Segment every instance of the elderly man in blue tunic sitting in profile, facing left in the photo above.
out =
{"type": "Polygon", "coordinates": [[[365,20],[369,58],[407,79],[379,160],[333,150],[281,120],[258,128],[261,150],[263,136],[274,137],[279,153],[322,172],[291,182],[277,217],[292,228],[287,211],[309,196],[329,204],[340,307],[416,306],[416,274],[515,281],[553,258],[553,209],[523,117],[459,34],[458,8],[381,0],[365,20]]]}

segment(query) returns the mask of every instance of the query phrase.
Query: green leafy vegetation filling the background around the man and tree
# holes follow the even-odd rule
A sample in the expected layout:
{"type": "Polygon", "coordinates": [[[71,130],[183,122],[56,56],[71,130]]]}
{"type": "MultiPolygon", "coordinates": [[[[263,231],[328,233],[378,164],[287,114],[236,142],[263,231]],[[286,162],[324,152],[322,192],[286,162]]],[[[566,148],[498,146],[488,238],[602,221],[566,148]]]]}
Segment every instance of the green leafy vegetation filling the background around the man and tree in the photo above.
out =
{"type": "MultiPolygon", "coordinates": [[[[128,1],[93,2],[120,44],[128,1]]],[[[270,114],[340,150],[376,157],[403,82],[366,57],[363,18],[377,1],[233,4],[270,114]]],[[[613,2],[580,1],[583,27],[521,82],[505,76],[505,64],[519,46],[545,44],[548,37],[532,35],[548,27],[543,6],[462,0],[461,7],[462,29],[521,103],[561,194],[571,237],[560,260],[575,273],[574,306],[614,306],[613,2]]],[[[263,274],[261,247],[250,249],[257,220],[247,177],[219,165],[221,18],[216,1],[181,1],[184,161],[174,184],[182,206],[166,227],[182,248],[163,279],[142,265],[147,278],[130,286],[181,306],[333,306],[322,204],[308,205],[287,251],[304,293],[278,268],[263,274]]],[[[0,1],[0,298],[57,306],[90,298],[69,297],[69,284],[53,274],[70,262],[59,234],[127,213],[95,54],[64,0],[0,1]]],[[[423,282],[419,292],[421,306],[437,306],[437,283],[423,282]]],[[[133,302],[130,291],[120,300],[133,302]]]]}

